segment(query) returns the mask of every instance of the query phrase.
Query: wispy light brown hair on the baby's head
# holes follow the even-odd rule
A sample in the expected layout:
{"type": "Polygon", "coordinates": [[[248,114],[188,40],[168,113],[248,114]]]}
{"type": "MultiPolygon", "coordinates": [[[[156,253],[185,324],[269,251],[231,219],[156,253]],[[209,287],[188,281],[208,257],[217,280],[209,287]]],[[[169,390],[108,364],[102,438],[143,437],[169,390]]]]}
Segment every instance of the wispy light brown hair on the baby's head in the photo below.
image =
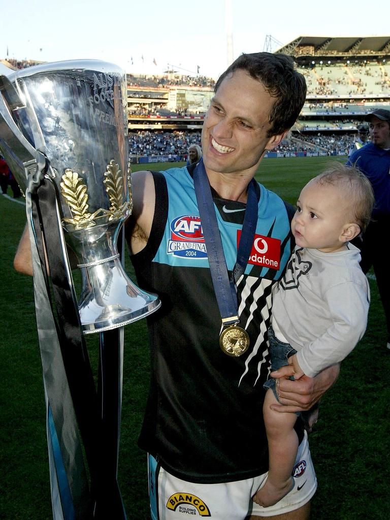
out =
{"type": "MultiPolygon", "coordinates": [[[[375,204],[374,191],[371,183],[356,166],[345,166],[332,161],[320,175],[312,179],[319,185],[330,184],[345,191],[350,199],[351,218],[365,231],[375,204]]],[[[346,197],[346,201],[348,198],[346,197]]],[[[352,222],[352,221],[351,221],[352,222]]]]}

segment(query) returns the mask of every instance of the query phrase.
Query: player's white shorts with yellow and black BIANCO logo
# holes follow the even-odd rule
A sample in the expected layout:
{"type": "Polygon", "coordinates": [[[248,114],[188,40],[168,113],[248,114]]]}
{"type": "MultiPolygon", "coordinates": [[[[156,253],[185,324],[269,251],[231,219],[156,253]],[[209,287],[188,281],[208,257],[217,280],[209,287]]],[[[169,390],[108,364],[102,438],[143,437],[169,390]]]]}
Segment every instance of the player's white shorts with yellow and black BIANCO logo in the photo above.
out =
{"type": "Polygon", "coordinates": [[[196,516],[244,520],[250,515],[274,516],[301,508],[317,489],[306,432],[295,460],[294,488],[269,508],[252,501],[255,492],[265,484],[267,473],[236,482],[197,484],[174,477],[149,455],[148,475],[152,520],[185,520],[196,516]]]}

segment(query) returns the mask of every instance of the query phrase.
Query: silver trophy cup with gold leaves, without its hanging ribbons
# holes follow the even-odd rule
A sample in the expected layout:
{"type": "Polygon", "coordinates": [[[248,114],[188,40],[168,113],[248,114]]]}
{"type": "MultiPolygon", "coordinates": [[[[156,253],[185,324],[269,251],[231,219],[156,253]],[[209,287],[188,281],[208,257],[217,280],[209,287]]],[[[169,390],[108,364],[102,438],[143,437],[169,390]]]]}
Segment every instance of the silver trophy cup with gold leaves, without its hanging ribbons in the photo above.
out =
{"type": "Polygon", "coordinates": [[[85,334],[157,310],[156,295],[125,274],[116,239],[132,211],[127,85],[123,70],[97,60],[0,68],[0,150],[25,192],[48,160],[64,237],[79,259],[85,334]]]}

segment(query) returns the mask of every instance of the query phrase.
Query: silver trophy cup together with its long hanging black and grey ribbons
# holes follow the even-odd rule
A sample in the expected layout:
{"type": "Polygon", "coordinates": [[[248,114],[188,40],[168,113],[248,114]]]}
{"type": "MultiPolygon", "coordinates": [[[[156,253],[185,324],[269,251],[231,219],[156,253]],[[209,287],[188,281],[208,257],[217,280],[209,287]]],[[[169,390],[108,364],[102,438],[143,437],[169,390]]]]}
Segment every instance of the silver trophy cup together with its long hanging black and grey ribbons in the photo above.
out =
{"type": "Polygon", "coordinates": [[[75,520],[126,518],[116,479],[120,328],[160,307],[129,280],[116,249],[133,205],[126,104],[126,76],[111,63],[16,72],[0,64],[0,151],[26,197],[56,520],[63,504],[75,520]],[[78,304],[66,244],[81,268],[78,304]],[[93,332],[101,333],[97,389],[84,341],[93,332]]]}

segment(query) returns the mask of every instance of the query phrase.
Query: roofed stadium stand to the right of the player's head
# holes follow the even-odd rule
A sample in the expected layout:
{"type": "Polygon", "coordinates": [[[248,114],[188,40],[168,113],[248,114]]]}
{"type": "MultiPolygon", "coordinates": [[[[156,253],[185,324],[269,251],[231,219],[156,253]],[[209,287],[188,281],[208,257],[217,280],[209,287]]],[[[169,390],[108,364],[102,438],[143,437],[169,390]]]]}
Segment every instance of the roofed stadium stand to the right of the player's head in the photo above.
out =
{"type": "Polygon", "coordinates": [[[341,153],[368,113],[390,105],[390,36],[299,36],[277,53],[293,56],[308,87],[296,139],[341,153]]]}

